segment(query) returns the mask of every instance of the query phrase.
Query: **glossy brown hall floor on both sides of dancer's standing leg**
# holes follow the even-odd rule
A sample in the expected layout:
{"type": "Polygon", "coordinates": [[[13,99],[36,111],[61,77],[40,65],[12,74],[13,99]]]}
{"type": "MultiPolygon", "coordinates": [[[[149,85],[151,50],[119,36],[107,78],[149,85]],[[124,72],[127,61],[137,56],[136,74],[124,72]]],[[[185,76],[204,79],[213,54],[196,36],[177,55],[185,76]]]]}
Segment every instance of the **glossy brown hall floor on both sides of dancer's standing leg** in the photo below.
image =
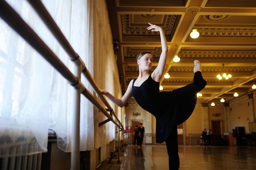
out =
{"type": "MultiPolygon", "coordinates": [[[[179,146],[180,170],[255,170],[256,146],[179,146]]],[[[128,145],[120,170],[168,170],[165,145],[128,145]]]]}

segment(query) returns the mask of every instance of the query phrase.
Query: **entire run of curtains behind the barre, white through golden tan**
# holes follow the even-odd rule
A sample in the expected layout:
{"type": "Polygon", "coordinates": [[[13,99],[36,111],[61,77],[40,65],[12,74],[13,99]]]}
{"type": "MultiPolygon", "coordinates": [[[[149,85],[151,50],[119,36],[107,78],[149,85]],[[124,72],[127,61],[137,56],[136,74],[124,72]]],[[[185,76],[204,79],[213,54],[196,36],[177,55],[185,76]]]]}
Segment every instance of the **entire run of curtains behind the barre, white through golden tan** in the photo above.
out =
{"type": "MultiPolygon", "coordinates": [[[[70,69],[74,63],[26,0],[7,0],[13,9],[70,69]]],[[[81,57],[98,86],[121,97],[106,2],[42,0],[64,36],[81,57]],[[115,90],[114,90],[115,89],[115,90]]],[[[93,94],[87,80],[81,82],[93,94]]],[[[0,18],[0,154],[1,157],[47,151],[48,129],[58,147],[71,150],[72,87],[40,54],[0,18]]],[[[121,116],[120,108],[112,105],[121,116]]],[[[94,150],[116,137],[112,122],[81,95],[80,147],[94,150]]]]}

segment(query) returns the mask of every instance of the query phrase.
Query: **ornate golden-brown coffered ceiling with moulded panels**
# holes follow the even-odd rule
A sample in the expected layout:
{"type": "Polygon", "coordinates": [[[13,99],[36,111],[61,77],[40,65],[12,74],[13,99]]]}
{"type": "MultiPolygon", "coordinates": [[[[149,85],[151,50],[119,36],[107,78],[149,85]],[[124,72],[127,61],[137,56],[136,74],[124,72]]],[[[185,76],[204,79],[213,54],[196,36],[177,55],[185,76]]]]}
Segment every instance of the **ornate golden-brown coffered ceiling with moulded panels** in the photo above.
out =
{"type": "Polygon", "coordinates": [[[243,96],[256,84],[256,1],[255,0],[107,0],[114,47],[123,93],[137,78],[135,57],[141,51],[153,55],[153,68],[161,53],[158,33],[147,31],[148,22],[164,29],[168,60],[162,78],[164,91],[193,81],[193,60],[202,63],[207,86],[199,102],[226,102],[234,92],[243,96]],[[197,29],[200,37],[189,34],[197,29]],[[173,62],[174,55],[180,57],[173,62]],[[217,74],[232,74],[218,80],[217,74]]]}

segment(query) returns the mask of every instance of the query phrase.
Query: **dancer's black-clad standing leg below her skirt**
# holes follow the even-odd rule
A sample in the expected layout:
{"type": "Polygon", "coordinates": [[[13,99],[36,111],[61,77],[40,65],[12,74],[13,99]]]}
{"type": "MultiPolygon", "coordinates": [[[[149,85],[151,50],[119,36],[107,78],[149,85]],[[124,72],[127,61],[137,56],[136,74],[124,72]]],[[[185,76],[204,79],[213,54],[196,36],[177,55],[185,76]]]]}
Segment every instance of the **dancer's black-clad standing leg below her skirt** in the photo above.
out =
{"type": "Polygon", "coordinates": [[[180,158],[178,154],[177,126],[173,126],[173,129],[165,142],[169,156],[169,170],[178,170],[180,168],[180,158]]]}

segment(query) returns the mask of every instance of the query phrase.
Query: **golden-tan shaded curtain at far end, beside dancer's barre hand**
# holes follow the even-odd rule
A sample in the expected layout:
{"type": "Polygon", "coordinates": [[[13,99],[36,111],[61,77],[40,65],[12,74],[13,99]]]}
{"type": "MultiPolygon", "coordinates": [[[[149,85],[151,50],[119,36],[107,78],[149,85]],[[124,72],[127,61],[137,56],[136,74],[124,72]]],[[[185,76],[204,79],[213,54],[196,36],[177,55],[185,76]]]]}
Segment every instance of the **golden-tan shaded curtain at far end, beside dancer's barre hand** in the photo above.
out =
{"type": "MultiPolygon", "coordinates": [[[[113,50],[113,40],[111,33],[111,26],[108,18],[108,11],[106,3],[102,3],[102,0],[94,0],[93,8],[93,35],[94,35],[94,80],[101,89],[106,89],[114,96],[113,89],[119,89],[119,76],[117,72],[117,62],[115,60],[113,50]],[[115,86],[114,82],[118,82],[118,86],[115,86]]],[[[118,97],[118,96],[117,96],[118,97]]],[[[111,107],[115,110],[115,105],[109,101],[111,107]]],[[[116,112],[116,110],[115,110],[116,112]]],[[[99,148],[106,145],[110,141],[115,139],[116,131],[115,124],[111,121],[98,127],[97,125],[106,120],[106,116],[94,110],[94,134],[95,134],[95,148],[99,148]]]]}

